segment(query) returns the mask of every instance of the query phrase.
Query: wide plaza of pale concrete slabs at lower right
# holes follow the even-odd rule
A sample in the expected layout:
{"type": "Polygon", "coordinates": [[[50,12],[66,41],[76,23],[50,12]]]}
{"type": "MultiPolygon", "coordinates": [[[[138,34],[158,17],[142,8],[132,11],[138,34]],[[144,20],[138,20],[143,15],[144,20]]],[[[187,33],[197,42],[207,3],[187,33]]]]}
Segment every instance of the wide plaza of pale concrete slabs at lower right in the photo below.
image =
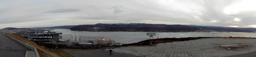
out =
{"type": "MultiPolygon", "coordinates": [[[[110,49],[105,49],[110,50],[110,49]]],[[[156,46],[129,46],[114,52],[143,57],[223,57],[256,52],[256,39],[203,38],[189,41],[159,43],[156,46]],[[247,44],[248,47],[226,50],[217,44],[247,44]]]]}

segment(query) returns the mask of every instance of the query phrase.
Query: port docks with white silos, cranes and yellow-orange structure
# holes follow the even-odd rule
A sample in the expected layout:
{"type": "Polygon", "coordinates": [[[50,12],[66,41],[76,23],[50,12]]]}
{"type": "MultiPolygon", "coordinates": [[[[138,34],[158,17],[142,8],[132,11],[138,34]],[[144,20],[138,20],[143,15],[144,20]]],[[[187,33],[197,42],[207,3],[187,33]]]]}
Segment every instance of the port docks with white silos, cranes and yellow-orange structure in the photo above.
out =
{"type": "MultiPolygon", "coordinates": [[[[51,31],[48,31],[51,32],[51,31]]],[[[47,33],[47,32],[45,32],[47,33]]],[[[39,43],[47,43],[47,44],[60,44],[63,46],[72,46],[72,47],[104,47],[104,46],[121,46],[122,43],[116,43],[114,40],[106,40],[103,37],[101,39],[95,39],[95,40],[81,40],[82,36],[79,36],[79,34],[72,34],[70,35],[70,40],[64,40],[60,41],[62,39],[62,36],[60,36],[62,33],[49,33],[54,35],[44,35],[44,36],[26,36],[24,38],[31,39],[34,42],[39,43]],[[31,38],[32,37],[32,38],[31,38]]],[[[58,48],[58,46],[56,46],[58,48]]]]}

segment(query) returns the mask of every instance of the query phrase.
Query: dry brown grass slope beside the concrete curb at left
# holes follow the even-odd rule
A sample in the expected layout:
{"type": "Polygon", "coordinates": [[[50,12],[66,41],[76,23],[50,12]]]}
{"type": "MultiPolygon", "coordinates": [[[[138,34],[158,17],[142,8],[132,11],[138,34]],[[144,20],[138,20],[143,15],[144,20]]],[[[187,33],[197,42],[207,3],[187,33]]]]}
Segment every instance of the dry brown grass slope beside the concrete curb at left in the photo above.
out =
{"type": "Polygon", "coordinates": [[[37,51],[38,51],[40,57],[74,57],[74,56],[64,52],[63,49],[50,50],[50,49],[45,48],[44,46],[39,46],[35,42],[28,40],[26,38],[23,38],[21,36],[17,36],[14,34],[6,34],[6,35],[11,36],[17,40],[22,41],[22,42],[25,42],[31,46],[34,46],[35,48],[37,48],[37,51]]]}

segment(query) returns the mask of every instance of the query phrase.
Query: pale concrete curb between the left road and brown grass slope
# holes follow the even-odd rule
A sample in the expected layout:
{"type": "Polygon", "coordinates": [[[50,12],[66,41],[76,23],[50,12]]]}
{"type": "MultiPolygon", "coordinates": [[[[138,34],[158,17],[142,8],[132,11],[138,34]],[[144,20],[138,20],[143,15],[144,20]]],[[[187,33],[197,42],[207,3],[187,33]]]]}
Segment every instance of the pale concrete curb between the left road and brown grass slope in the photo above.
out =
{"type": "MultiPolygon", "coordinates": [[[[5,34],[3,34],[3,35],[5,35],[5,34]]],[[[26,48],[28,48],[28,49],[30,49],[30,50],[34,50],[36,56],[37,56],[37,57],[40,57],[39,54],[38,54],[38,52],[37,52],[37,48],[35,48],[34,46],[31,46],[31,45],[29,45],[29,44],[27,44],[27,43],[25,43],[25,42],[22,42],[22,41],[20,41],[20,40],[17,40],[17,39],[15,39],[15,38],[12,38],[12,37],[10,37],[10,36],[8,36],[8,35],[5,35],[5,36],[11,38],[11,39],[14,40],[15,42],[18,42],[19,44],[21,44],[22,46],[25,46],[26,48]]]]}

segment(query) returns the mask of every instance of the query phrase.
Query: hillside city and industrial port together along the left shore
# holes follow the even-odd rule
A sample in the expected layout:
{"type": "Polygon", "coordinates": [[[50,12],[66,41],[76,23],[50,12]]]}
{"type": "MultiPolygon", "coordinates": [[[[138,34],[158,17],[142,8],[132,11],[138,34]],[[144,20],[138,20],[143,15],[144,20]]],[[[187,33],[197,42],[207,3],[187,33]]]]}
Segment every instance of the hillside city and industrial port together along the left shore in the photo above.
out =
{"type": "MultiPolygon", "coordinates": [[[[30,28],[5,28],[1,29],[0,32],[3,34],[16,34],[18,36],[27,38],[32,40],[36,43],[44,43],[52,45],[50,46],[52,49],[60,48],[59,45],[62,47],[109,47],[109,46],[121,46],[122,43],[116,43],[114,40],[106,40],[103,37],[101,39],[95,40],[81,40],[82,36],[79,34],[70,34],[70,40],[60,41],[62,39],[62,32],[53,32],[53,29],[30,29],[30,28]],[[54,46],[56,45],[56,46],[54,46]],[[54,48],[53,48],[54,47],[54,48]]],[[[84,35],[85,36],[85,35],[84,35]]],[[[81,48],[86,49],[86,48],[81,48]]]]}

